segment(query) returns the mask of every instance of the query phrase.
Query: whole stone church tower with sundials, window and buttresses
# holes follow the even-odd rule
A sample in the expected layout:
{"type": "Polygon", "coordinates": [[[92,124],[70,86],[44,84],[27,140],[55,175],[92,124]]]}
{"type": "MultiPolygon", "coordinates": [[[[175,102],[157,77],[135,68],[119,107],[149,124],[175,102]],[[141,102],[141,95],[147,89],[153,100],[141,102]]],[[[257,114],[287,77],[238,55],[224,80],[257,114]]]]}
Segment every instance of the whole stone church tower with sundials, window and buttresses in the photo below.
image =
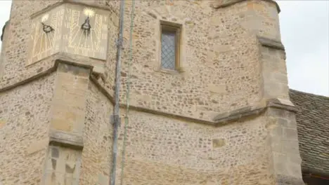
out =
{"type": "Polygon", "coordinates": [[[0,184],[303,184],[276,2],[135,1],[129,65],[132,3],[116,142],[120,1],[13,1],[0,184]]]}

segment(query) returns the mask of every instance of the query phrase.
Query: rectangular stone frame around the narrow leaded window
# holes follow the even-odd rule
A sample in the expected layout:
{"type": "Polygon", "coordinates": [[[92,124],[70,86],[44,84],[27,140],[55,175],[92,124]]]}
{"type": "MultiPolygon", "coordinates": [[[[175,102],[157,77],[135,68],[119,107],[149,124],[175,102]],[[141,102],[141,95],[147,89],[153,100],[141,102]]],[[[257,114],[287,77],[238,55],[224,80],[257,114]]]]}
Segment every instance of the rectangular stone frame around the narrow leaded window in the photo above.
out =
{"type": "Polygon", "coordinates": [[[160,70],[164,72],[169,73],[176,73],[180,72],[180,65],[181,65],[181,31],[182,25],[174,22],[167,22],[164,20],[160,20],[160,70]],[[169,31],[169,32],[175,32],[175,69],[165,69],[162,67],[162,59],[161,59],[161,53],[162,53],[162,32],[163,31],[169,31]]]}

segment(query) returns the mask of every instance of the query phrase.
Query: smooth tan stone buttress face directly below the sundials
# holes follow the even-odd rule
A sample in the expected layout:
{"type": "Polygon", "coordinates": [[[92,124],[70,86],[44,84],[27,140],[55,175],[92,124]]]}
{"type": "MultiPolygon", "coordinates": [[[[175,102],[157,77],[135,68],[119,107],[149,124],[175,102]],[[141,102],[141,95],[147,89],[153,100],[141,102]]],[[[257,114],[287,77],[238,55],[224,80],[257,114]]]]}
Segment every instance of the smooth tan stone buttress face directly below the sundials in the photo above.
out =
{"type": "Polygon", "coordinates": [[[51,107],[51,128],[82,135],[90,69],[58,64],[51,107]]]}

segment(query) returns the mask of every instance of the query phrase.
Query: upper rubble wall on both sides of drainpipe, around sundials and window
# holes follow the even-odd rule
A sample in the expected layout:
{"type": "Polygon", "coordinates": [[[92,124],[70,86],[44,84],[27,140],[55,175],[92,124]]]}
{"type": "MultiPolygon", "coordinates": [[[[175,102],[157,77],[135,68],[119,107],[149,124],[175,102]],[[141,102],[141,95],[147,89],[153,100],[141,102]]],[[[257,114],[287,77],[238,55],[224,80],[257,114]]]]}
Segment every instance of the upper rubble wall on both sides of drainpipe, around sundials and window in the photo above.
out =
{"type": "MultiPolygon", "coordinates": [[[[45,71],[56,58],[63,57],[64,54],[53,55],[26,66],[31,16],[53,8],[60,2],[13,1],[11,34],[8,35],[8,43],[11,45],[4,51],[7,60],[3,64],[1,87],[45,71]]],[[[108,7],[112,11],[108,58],[103,69],[95,70],[103,74],[103,85],[112,94],[120,1],[82,3],[108,7]]],[[[280,41],[276,4],[271,1],[238,1],[231,6],[214,8],[213,3],[136,1],[131,81],[131,99],[134,101],[131,104],[209,121],[219,112],[254,105],[261,100],[262,81],[259,76],[262,71],[256,36],[280,41]],[[163,73],[159,69],[160,20],[182,25],[182,71],[176,74],[163,73]]],[[[123,87],[129,61],[131,1],[127,1],[125,7],[123,87]]],[[[86,64],[95,63],[90,58],[74,55],[68,57],[86,64]]],[[[124,100],[124,92],[121,95],[124,100]]]]}

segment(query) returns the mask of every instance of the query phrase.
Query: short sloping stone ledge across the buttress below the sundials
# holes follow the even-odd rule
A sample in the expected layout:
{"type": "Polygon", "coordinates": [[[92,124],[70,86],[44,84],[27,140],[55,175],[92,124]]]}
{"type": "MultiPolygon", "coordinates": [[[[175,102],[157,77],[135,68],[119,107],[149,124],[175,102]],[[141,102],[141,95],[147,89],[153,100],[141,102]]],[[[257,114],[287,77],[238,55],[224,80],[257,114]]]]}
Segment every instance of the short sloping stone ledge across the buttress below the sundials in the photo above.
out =
{"type": "Polygon", "coordinates": [[[82,136],[72,135],[67,132],[51,130],[49,132],[49,144],[56,146],[66,146],[73,149],[83,149],[84,142],[82,136]]]}

